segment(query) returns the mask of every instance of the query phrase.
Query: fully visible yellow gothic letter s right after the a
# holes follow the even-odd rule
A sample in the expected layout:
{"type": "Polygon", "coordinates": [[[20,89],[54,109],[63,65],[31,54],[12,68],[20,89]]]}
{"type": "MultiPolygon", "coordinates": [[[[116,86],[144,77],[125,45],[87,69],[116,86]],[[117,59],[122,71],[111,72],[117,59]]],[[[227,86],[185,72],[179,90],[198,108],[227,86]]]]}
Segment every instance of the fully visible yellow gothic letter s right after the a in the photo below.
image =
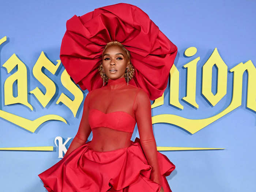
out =
{"type": "Polygon", "coordinates": [[[30,91],[30,93],[34,94],[41,105],[45,108],[45,106],[50,102],[56,92],[56,86],[54,82],[48,78],[43,72],[42,67],[45,67],[48,71],[50,71],[53,75],[56,73],[57,69],[60,66],[60,60],[57,60],[57,64],[54,65],[44,54],[41,52],[37,62],[33,67],[33,75],[35,78],[44,85],[46,89],[46,93],[42,93],[38,87],[34,90],[30,91]]]}

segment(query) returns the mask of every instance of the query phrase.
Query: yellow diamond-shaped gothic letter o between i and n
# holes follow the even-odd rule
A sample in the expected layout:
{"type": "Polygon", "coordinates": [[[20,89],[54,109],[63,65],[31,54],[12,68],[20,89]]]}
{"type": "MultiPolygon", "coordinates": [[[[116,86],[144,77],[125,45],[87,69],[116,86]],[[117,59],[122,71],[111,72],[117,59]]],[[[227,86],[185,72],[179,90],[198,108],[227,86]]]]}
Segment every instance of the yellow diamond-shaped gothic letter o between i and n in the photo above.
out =
{"type": "Polygon", "coordinates": [[[227,65],[222,60],[217,48],[214,49],[210,58],[203,65],[202,94],[215,106],[227,93],[227,65]],[[218,68],[217,93],[214,95],[212,89],[212,67],[218,68]]]}

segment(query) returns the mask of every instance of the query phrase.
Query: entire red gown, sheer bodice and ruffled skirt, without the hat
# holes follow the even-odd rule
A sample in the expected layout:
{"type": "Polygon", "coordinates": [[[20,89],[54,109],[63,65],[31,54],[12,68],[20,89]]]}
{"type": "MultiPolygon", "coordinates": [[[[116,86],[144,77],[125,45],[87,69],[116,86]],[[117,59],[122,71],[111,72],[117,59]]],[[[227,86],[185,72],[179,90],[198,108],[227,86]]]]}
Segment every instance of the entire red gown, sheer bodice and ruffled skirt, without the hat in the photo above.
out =
{"type": "Polygon", "coordinates": [[[148,94],[120,78],[87,94],[67,153],[38,176],[49,192],[171,192],[166,176],[174,169],[157,151],[148,94]]]}

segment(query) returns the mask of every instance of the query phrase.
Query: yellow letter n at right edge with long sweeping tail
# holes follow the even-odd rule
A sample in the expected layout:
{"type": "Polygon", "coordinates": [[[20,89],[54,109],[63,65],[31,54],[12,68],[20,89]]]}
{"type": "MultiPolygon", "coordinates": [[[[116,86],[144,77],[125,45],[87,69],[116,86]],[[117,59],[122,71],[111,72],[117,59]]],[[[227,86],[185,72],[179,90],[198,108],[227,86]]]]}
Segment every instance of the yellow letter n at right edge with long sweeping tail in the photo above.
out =
{"type": "Polygon", "coordinates": [[[252,61],[249,60],[245,64],[240,63],[229,70],[234,73],[232,101],[229,106],[219,114],[204,119],[188,119],[172,114],[161,114],[152,117],[152,124],[169,123],[184,128],[192,134],[203,129],[242,104],[242,76],[245,70],[248,71],[247,107],[256,111],[256,90],[254,87],[254,83],[256,82],[256,68],[252,61]]]}

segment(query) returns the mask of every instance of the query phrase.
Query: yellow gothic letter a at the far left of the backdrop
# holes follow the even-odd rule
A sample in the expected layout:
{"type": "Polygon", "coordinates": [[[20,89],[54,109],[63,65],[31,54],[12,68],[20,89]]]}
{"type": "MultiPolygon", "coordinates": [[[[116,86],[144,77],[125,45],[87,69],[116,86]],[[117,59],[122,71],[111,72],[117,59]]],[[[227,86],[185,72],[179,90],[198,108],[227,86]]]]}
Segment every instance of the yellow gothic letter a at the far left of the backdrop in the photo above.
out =
{"type": "Polygon", "coordinates": [[[9,76],[4,82],[4,105],[21,103],[31,110],[32,105],[27,101],[27,68],[14,53],[4,64],[3,67],[10,73],[18,65],[18,70],[9,76]],[[18,96],[13,96],[13,84],[17,80],[18,96]]]}

